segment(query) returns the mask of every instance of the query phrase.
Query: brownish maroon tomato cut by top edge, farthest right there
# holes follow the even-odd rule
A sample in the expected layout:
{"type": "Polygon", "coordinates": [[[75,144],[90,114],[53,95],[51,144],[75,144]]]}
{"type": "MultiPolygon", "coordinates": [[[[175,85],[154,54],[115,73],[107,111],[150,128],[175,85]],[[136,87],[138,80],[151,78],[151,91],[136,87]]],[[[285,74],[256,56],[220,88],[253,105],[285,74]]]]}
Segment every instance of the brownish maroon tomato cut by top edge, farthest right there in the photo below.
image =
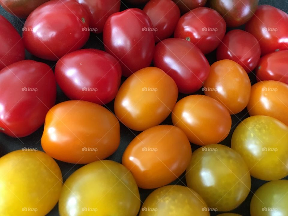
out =
{"type": "Polygon", "coordinates": [[[245,24],[255,13],[259,0],[210,0],[210,7],[217,10],[227,26],[245,24]]]}

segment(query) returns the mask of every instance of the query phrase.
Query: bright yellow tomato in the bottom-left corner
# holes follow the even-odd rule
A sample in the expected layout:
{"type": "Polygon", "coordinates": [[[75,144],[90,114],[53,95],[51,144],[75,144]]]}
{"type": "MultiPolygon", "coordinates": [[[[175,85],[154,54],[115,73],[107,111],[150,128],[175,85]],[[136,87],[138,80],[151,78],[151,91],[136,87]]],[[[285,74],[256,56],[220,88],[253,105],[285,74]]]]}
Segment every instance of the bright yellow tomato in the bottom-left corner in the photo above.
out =
{"type": "Polygon", "coordinates": [[[61,170],[44,152],[24,148],[0,158],[1,216],[44,216],[61,188],[61,170]]]}

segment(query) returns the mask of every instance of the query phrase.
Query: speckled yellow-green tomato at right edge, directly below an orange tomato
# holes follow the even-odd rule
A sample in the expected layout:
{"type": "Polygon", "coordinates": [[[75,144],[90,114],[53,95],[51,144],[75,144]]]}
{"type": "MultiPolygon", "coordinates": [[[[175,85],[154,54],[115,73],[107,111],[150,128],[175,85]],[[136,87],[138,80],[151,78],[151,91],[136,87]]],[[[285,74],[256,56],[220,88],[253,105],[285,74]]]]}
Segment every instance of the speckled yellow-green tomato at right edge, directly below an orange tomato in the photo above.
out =
{"type": "Polygon", "coordinates": [[[251,116],[235,129],[231,148],[238,152],[251,176],[266,181],[288,175],[288,127],[269,116],[251,116]]]}

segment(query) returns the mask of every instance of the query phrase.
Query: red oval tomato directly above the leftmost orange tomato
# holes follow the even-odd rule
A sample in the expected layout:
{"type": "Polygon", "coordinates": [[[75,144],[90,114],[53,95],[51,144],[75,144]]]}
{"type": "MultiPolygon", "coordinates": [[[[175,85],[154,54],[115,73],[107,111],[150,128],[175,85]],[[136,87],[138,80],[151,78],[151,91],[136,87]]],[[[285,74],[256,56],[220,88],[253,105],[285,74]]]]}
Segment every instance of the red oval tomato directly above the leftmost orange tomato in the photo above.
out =
{"type": "Polygon", "coordinates": [[[55,78],[71,100],[107,104],[121,82],[121,66],[107,52],[80,49],[64,55],[55,66],[55,78]]]}

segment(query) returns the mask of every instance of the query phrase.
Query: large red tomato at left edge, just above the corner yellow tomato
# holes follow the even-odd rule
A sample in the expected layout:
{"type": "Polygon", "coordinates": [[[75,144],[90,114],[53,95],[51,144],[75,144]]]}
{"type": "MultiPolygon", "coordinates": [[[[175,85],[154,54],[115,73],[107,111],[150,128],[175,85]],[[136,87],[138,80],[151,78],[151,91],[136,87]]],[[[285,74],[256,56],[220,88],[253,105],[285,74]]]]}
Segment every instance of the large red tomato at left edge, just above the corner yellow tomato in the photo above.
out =
{"type": "Polygon", "coordinates": [[[55,104],[56,82],[44,63],[23,60],[0,71],[0,130],[11,137],[36,131],[55,104]]]}

